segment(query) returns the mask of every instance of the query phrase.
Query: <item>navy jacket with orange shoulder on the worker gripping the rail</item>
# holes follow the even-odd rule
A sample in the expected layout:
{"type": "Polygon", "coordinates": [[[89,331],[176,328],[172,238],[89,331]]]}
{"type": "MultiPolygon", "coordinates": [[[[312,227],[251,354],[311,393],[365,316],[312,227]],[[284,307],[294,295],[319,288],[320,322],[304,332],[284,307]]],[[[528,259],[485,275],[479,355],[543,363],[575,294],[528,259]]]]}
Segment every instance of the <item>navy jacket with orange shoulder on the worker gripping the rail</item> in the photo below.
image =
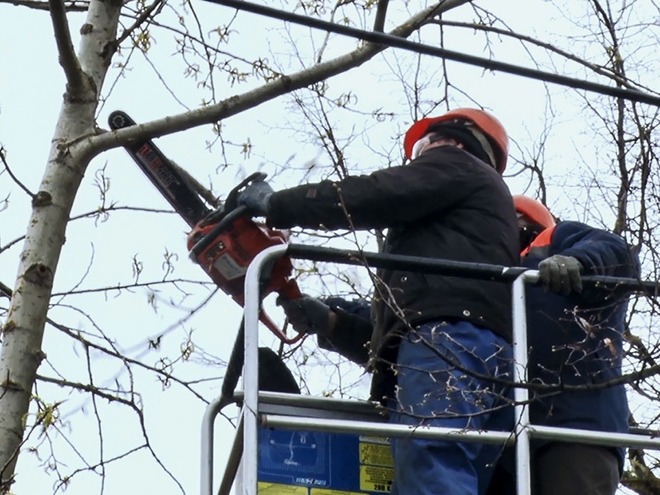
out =
{"type": "MultiPolygon", "coordinates": [[[[540,234],[522,257],[522,265],[536,269],[555,254],[574,256],[586,275],[639,276],[639,260],[624,239],[584,223],[560,222],[540,234]]],[[[585,287],[582,294],[561,296],[530,286],[526,296],[531,382],[588,385],[621,376],[626,294],[585,287]]],[[[529,408],[532,423],[628,432],[624,385],[559,395],[537,393],[529,408]]],[[[618,453],[622,461],[623,450],[618,453]]]]}

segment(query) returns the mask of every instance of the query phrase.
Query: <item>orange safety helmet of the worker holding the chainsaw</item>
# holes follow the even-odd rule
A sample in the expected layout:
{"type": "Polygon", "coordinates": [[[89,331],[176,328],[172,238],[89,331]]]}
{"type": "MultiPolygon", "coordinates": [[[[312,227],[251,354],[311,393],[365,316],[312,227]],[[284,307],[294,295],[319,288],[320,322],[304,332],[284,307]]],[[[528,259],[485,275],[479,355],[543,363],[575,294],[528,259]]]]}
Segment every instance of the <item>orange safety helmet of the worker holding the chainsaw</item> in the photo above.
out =
{"type": "Polygon", "coordinates": [[[509,137],[507,137],[507,131],[505,131],[502,123],[494,118],[493,115],[478,109],[454,109],[439,117],[428,117],[417,120],[415,124],[410,126],[404,138],[404,151],[406,151],[408,159],[412,159],[412,147],[426,134],[428,126],[447,120],[467,120],[483,132],[494,145],[494,151],[497,154],[495,158],[497,162],[495,169],[500,174],[504,173],[505,168],[507,168],[507,157],[509,156],[509,137]]]}

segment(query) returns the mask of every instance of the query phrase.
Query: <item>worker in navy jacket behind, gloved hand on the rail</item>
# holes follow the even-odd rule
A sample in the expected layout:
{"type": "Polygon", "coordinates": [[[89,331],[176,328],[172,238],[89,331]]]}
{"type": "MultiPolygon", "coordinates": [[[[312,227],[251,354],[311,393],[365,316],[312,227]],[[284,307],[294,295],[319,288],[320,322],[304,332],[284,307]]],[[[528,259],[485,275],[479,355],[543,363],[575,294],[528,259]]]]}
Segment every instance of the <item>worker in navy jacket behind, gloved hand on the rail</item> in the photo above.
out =
{"type": "MultiPolygon", "coordinates": [[[[544,281],[526,292],[529,381],[539,386],[531,391],[530,421],[627,433],[624,385],[586,387],[621,376],[628,296],[582,287],[581,274],[637,278],[639,260],[618,235],[575,221],[555,225],[539,201],[514,196],[514,202],[521,263],[544,281]],[[558,393],[557,386],[586,389],[558,393]]],[[[533,441],[532,448],[533,495],[615,494],[624,449],[559,441],[533,441]]],[[[512,486],[492,489],[514,494],[512,486]]]]}

